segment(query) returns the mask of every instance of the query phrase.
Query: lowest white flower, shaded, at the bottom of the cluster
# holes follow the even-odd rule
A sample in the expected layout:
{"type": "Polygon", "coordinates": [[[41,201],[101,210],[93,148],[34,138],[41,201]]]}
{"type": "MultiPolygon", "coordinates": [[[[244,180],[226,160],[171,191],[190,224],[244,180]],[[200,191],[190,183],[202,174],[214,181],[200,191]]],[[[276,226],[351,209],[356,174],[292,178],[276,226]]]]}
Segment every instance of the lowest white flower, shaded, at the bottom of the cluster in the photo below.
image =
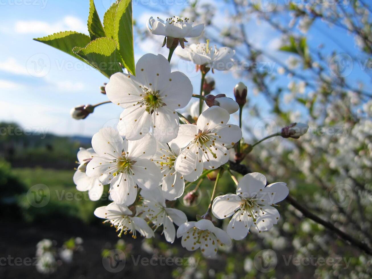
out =
{"type": "Polygon", "coordinates": [[[206,257],[215,256],[218,245],[231,245],[231,239],[228,234],[216,228],[212,221],[201,219],[198,222],[186,222],[177,230],[177,238],[182,236],[182,247],[189,251],[198,248],[206,257]]]}

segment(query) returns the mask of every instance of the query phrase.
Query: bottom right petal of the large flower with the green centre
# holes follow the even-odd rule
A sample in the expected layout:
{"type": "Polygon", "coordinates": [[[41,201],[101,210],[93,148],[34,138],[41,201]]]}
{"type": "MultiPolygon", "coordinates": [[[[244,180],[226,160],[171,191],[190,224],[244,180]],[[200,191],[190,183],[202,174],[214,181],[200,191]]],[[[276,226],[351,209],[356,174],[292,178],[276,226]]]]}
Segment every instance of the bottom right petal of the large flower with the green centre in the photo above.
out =
{"type": "Polygon", "coordinates": [[[179,129],[179,118],[174,110],[166,106],[155,109],[152,114],[153,134],[160,142],[170,142],[177,137],[179,129]]]}

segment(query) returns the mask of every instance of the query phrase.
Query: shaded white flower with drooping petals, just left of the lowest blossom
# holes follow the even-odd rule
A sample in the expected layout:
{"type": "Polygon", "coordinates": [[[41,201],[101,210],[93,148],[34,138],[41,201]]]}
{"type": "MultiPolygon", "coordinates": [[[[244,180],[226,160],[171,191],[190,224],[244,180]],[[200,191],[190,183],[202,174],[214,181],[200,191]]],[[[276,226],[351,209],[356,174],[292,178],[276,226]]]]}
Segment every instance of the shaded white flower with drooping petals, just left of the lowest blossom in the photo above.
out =
{"type": "MultiPolygon", "coordinates": [[[[155,190],[142,190],[142,204],[136,207],[137,215],[144,214],[154,224],[154,231],[163,225],[163,234],[166,240],[173,243],[176,237],[177,226],[187,222],[185,213],[178,209],[167,208],[160,187],[155,190]]],[[[141,215],[142,216],[142,215],[141,215]]]]}

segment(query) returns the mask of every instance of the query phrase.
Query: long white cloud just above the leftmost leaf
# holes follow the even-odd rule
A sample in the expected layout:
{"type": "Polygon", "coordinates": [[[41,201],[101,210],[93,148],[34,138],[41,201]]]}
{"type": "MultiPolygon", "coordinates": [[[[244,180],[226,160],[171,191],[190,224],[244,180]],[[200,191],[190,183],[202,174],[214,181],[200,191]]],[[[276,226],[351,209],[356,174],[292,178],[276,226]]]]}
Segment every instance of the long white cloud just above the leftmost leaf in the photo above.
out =
{"type": "Polygon", "coordinates": [[[19,34],[50,35],[60,31],[87,33],[87,26],[81,19],[74,16],[65,16],[62,20],[54,23],[39,20],[19,20],[15,23],[15,32],[19,34]]]}

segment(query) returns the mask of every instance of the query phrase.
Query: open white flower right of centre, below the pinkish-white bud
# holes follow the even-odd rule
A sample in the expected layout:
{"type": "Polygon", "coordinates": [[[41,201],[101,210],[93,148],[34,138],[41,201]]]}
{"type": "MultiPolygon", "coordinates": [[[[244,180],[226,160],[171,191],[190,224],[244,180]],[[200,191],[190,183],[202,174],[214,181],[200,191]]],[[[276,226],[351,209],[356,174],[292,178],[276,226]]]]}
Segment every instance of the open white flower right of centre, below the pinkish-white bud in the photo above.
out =
{"type": "Polygon", "coordinates": [[[239,126],[227,124],[229,119],[227,110],[212,106],[199,116],[197,125],[180,125],[177,138],[171,141],[180,148],[185,147],[174,164],[176,171],[198,178],[203,168],[217,169],[227,163],[227,147],[242,136],[239,126]]]}

